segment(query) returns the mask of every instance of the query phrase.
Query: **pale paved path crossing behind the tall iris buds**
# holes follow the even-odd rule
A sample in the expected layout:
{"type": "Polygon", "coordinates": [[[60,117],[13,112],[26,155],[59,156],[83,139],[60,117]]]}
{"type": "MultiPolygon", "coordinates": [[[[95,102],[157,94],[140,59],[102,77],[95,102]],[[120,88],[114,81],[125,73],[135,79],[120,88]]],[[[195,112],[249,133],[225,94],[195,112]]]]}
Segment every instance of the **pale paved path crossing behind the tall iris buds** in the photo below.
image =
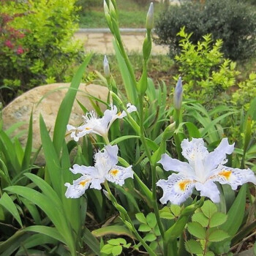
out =
{"type": "MultiPolygon", "coordinates": [[[[142,53],[143,41],[146,35],[145,29],[120,29],[124,48],[127,52],[142,53]]],[[[113,35],[109,29],[80,29],[75,33],[75,38],[82,40],[86,52],[113,54],[113,35]]],[[[168,48],[162,45],[152,44],[151,54],[167,54],[168,48]]]]}

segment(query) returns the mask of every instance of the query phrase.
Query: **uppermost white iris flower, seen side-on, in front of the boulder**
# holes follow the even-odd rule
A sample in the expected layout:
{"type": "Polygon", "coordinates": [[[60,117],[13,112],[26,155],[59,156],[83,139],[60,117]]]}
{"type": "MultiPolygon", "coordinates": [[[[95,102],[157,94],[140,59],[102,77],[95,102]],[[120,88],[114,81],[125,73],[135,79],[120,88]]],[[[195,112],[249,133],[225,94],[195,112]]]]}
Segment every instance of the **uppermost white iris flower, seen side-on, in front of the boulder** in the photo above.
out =
{"type": "MultiPolygon", "coordinates": [[[[136,107],[127,104],[127,112],[132,113],[136,111],[136,107]]],[[[67,125],[67,131],[71,131],[71,138],[74,138],[75,141],[78,141],[79,138],[84,135],[94,133],[102,136],[103,138],[108,138],[108,130],[110,129],[111,124],[116,119],[124,118],[127,116],[125,111],[118,112],[115,105],[110,105],[110,109],[105,110],[102,118],[97,117],[97,114],[94,111],[86,113],[84,118],[84,124],[80,127],[73,127],[72,125],[67,125]]]]}

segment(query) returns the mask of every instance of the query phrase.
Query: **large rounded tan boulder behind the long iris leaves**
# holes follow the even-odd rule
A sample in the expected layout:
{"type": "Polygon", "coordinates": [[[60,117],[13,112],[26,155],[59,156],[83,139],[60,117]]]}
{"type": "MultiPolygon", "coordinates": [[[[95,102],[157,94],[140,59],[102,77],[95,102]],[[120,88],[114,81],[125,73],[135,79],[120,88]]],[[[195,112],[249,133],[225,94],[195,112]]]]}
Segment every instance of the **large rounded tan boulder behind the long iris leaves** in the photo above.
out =
{"type": "MultiPolygon", "coordinates": [[[[67,93],[70,83],[53,83],[46,86],[38,86],[26,93],[20,95],[9,105],[3,109],[2,118],[4,121],[4,130],[12,127],[13,124],[22,122],[23,124],[12,132],[12,137],[18,136],[22,146],[26,145],[26,136],[29,129],[29,118],[33,110],[33,148],[37,150],[41,145],[40,131],[39,131],[39,115],[45,120],[47,128],[50,130],[50,136],[53,135],[53,128],[56,116],[61,105],[61,101],[67,93]],[[23,135],[19,136],[20,131],[25,130],[23,135]]],[[[93,110],[93,106],[88,96],[97,97],[103,101],[107,101],[108,89],[103,86],[97,86],[81,83],[76,99],[81,102],[87,110],[93,110]]],[[[99,107],[105,110],[106,106],[99,103],[99,107]]],[[[69,118],[69,124],[78,126],[82,121],[83,110],[81,110],[78,102],[72,107],[72,113],[69,118]]],[[[68,136],[69,138],[69,136],[68,136]]],[[[37,164],[43,164],[44,160],[40,155],[37,164]]]]}

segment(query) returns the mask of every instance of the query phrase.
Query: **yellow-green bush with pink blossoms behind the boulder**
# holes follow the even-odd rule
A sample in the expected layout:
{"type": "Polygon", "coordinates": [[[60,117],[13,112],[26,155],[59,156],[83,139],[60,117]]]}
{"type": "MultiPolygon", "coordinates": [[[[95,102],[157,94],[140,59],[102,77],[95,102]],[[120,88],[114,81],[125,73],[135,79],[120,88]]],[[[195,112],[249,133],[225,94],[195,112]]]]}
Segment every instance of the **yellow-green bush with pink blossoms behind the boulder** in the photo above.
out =
{"type": "Polygon", "coordinates": [[[76,9],[75,0],[0,1],[1,101],[69,80],[83,57],[83,46],[72,39],[76,9]]]}

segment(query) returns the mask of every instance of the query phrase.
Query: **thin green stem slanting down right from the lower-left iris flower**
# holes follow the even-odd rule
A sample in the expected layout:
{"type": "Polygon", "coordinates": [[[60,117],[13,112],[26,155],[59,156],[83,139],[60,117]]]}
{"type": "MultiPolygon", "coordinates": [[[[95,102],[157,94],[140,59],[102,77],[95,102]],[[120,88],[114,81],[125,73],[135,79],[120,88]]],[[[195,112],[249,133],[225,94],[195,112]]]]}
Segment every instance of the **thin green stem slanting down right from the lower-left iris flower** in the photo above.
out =
{"type": "Polygon", "coordinates": [[[118,208],[122,210],[122,211],[119,211],[119,210],[118,211],[125,218],[125,219],[121,218],[123,220],[124,224],[127,225],[127,222],[129,222],[129,225],[127,225],[127,227],[132,230],[132,232],[135,234],[136,238],[138,238],[138,241],[140,241],[140,243],[146,249],[148,254],[151,256],[157,256],[157,254],[153,252],[153,250],[148,246],[148,244],[146,244],[146,242],[140,236],[140,234],[138,233],[138,231],[136,230],[136,228],[132,222],[132,219],[130,219],[129,215],[127,214],[127,211],[124,209],[124,207],[122,207],[118,204],[116,197],[114,197],[112,192],[110,191],[110,187],[108,186],[107,181],[104,182],[104,186],[105,186],[105,189],[107,189],[108,195],[110,196],[110,200],[113,203],[113,206],[115,206],[115,207],[118,206],[118,207],[116,207],[117,210],[118,210],[118,208]]]}

